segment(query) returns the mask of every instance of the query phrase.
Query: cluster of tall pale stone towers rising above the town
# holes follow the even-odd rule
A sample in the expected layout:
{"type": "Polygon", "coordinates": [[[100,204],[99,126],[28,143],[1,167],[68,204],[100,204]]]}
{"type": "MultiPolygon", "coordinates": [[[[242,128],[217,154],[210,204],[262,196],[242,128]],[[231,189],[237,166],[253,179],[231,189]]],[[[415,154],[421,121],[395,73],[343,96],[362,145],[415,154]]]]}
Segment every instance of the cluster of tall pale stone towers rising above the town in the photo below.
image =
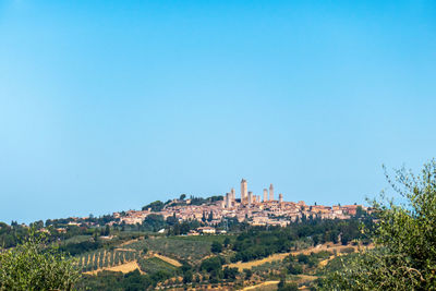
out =
{"type": "MultiPolygon", "coordinates": [[[[234,206],[237,201],[234,189],[231,189],[230,193],[226,193],[225,207],[231,208],[234,206]]],[[[274,201],[274,186],[269,185],[269,198],[268,190],[264,189],[264,203],[274,201]]],[[[279,194],[279,202],[283,202],[283,195],[279,194]]],[[[247,183],[245,179],[241,181],[241,204],[252,206],[253,203],[261,203],[261,195],[253,195],[253,192],[249,191],[247,183]]]]}

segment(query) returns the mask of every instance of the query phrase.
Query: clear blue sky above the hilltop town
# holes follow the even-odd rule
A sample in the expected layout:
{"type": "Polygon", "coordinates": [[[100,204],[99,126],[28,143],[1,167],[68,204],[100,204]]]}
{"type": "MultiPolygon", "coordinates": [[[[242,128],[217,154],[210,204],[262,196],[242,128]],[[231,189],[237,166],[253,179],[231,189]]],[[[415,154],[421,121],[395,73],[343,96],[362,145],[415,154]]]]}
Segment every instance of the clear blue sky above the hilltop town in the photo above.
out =
{"type": "Polygon", "coordinates": [[[0,221],[241,178],[364,203],[436,149],[435,1],[1,1],[0,221]]]}

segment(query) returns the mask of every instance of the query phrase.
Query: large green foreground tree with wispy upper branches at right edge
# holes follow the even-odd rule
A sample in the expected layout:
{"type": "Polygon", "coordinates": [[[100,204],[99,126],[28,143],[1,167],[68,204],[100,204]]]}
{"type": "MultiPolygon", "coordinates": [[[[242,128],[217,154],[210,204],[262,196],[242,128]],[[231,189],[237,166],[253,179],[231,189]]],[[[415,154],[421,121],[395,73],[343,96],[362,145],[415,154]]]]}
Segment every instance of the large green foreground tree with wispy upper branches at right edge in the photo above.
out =
{"type": "MultiPolygon", "coordinates": [[[[385,169],[385,173],[386,173],[385,169]]],[[[436,290],[436,161],[419,175],[404,168],[386,174],[405,204],[373,202],[376,248],[360,253],[326,280],[328,290],[436,290]]]]}

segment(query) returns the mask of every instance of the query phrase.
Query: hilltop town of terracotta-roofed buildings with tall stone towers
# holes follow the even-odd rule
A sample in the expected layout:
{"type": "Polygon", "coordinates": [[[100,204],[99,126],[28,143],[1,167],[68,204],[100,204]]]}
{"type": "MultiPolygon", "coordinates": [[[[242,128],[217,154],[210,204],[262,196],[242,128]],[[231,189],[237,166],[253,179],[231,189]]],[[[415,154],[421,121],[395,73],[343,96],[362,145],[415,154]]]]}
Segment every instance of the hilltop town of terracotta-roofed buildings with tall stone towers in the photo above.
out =
{"type": "MultiPolygon", "coordinates": [[[[119,219],[119,223],[125,225],[142,223],[152,214],[161,215],[164,219],[172,216],[179,221],[203,220],[208,227],[199,228],[199,231],[215,233],[213,226],[228,218],[237,218],[239,222],[246,221],[251,226],[286,227],[304,218],[348,219],[358,211],[368,210],[362,205],[324,206],[306,205],[303,201],[286,202],[281,193],[276,199],[274,191],[270,184],[269,191],[264,189],[263,197],[254,195],[249,191],[247,181],[242,179],[240,198],[237,198],[235,190],[231,189],[226,195],[199,205],[194,204],[193,198],[182,197],[165,204],[161,209],[145,207],[143,210],[113,213],[113,217],[119,219]],[[206,216],[209,219],[204,219],[206,216]]],[[[195,231],[190,234],[195,234],[195,231]]]]}

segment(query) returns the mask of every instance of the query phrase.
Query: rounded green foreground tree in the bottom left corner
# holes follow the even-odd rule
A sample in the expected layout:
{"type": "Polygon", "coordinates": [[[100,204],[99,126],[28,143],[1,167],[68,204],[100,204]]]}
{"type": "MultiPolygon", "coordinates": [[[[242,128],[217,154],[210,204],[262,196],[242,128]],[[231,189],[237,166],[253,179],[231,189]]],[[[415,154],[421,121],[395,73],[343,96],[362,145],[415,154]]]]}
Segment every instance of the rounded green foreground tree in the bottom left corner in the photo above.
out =
{"type": "Polygon", "coordinates": [[[0,290],[72,290],[78,279],[78,268],[40,233],[0,252],[0,290]]]}

